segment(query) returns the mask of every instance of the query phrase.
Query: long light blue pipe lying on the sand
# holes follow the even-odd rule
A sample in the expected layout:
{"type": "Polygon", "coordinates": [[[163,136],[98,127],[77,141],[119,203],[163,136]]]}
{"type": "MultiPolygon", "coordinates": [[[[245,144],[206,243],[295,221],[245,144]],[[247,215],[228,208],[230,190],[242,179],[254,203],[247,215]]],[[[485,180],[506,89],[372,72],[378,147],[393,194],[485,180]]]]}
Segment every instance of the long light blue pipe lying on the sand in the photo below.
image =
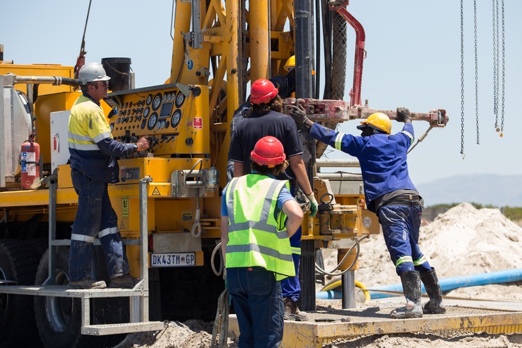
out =
{"type": "MultiPolygon", "coordinates": [[[[470,276],[458,276],[451,278],[443,278],[439,279],[439,283],[441,283],[441,290],[443,293],[450,292],[451,290],[458,289],[459,287],[471,287],[471,286],[479,286],[479,285],[489,285],[489,284],[502,284],[502,283],[513,283],[516,281],[522,280],[522,268],[517,269],[507,269],[505,271],[491,272],[491,273],[482,273],[482,274],[473,274],[470,276]]],[[[383,291],[397,291],[402,292],[402,284],[393,284],[393,285],[385,285],[374,287],[374,290],[383,290],[383,291]]],[[[425,293],[426,290],[424,285],[422,285],[422,292],[425,293]]],[[[375,292],[370,290],[370,296],[373,299],[383,299],[385,297],[399,296],[397,294],[386,294],[383,292],[375,292]]],[[[330,291],[320,291],[315,294],[316,299],[342,299],[342,293],[337,290],[330,291]]]]}

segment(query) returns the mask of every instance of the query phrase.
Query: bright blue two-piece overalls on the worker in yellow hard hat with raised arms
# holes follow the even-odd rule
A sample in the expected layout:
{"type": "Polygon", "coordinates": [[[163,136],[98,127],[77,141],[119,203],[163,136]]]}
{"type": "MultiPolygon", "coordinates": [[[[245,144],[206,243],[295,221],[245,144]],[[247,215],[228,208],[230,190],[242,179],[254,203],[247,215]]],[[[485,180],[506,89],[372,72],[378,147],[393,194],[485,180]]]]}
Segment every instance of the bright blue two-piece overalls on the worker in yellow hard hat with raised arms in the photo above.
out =
{"type": "MultiPolygon", "coordinates": [[[[374,200],[398,190],[416,192],[406,164],[406,152],[413,141],[413,125],[405,123],[397,134],[373,134],[353,136],[314,124],[310,136],[333,148],[357,157],[361,164],[367,207],[376,212],[374,200]]],[[[383,237],[400,275],[404,271],[431,271],[429,262],[418,246],[420,206],[418,195],[412,200],[384,203],[377,216],[383,229],[383,237]]]]}

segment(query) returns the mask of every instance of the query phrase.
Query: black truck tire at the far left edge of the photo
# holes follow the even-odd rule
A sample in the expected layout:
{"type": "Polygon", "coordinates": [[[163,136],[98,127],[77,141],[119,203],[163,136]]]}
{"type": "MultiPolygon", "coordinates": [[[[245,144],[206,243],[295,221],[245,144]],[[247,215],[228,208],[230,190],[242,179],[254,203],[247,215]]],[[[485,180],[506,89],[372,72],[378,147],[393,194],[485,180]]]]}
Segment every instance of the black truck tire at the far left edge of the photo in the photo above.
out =
{"type": "MultiPolygon", "coordinates": [[[[33,285],[37,266],[38,258],[25,241],[0,241],[1,279],[15,280],[17,285],[33,285]]],[[[0,294],[0,344],[2,347],[39,344],[31,297],[0,294]]]]}

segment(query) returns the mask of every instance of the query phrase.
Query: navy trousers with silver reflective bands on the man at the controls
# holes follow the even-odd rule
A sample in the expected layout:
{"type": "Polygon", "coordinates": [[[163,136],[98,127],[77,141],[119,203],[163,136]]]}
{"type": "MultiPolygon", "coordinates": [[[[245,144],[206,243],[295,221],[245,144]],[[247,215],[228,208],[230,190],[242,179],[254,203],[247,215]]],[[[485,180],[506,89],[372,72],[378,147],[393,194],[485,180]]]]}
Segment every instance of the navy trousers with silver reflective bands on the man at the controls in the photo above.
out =
{"type": "Polygon", "coordinates": [[[129,273],[123,250],[118,216],[111,206],[107,184],[91,180],[80,171],[71,171],[72,186],[78,193],[78,211],[74,219],[69,255],[69,280],[91,278],[93,242],[100,239],[110,278],[129,273]]]}

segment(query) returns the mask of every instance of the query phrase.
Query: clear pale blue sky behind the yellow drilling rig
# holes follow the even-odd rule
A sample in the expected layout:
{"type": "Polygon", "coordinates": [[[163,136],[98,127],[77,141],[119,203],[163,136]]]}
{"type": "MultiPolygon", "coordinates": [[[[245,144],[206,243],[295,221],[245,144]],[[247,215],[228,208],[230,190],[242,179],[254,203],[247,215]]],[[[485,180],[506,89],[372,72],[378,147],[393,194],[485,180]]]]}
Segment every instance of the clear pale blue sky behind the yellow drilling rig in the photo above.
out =
{"type": "MultiPolygon", "coordinates": [[[[501,3],[501,0],[499,0],[501,3]]],[[[74,65],[81,45],[88,0],[4,1],[0,44],[15,63],[74,65]]],[[[132,58],[136,87],[162,84],[170,75],[171,1],[93,0],[86,33],[87,62],[104,57],[132,58]]],[[[461,148],[460,3],[440,1],[351,0],[348,10],[364,26],[367,58],[362,99],[372,109],[407,106],[411,111],[447,109],[450,123],[433,129],[409,155],[415,184],[452,175],[522,175],[519,67],[522,56],[522,1],[505,0],[505,122],[501,139],[493,125],[493,24],[491,1],[477,1],[480,145],[476,144],[473,1],[464,1],[465,114],[461,148]]],[[[353,42],[354,33],[349,31],[353,42]]],[[[349,44],[348,72],[353,51],[349,44]]],[[[345,100],[351,76],[347,77],[345,100]]],[[[322,88],[321,88],[322,90],[322,88]]],[[[500,120],[500,116],[499,116],[500,120]]],[[[340,126],[358,134],[357,121],[340,126]]],[[[400,130],[393,122],[393,132],[400,130]]],[[[416,135],[427,129],[415,122],[416,135]]],[[[329,152],[330,158],[345,158],[329,152]]]]}

